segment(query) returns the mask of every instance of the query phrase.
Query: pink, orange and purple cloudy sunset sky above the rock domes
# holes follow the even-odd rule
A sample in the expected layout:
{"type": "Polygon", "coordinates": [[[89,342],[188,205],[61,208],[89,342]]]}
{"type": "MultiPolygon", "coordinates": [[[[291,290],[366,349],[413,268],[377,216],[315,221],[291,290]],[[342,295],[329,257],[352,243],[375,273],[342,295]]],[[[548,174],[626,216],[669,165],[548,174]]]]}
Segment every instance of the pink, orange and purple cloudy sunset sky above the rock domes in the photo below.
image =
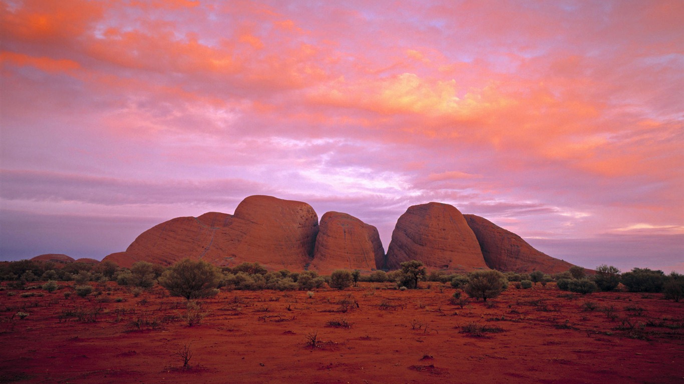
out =
{"type": "Polygon", "coordinates": [[[0,0],[0,260],[249,195],[684,272],[684,2],[0,0]]]}

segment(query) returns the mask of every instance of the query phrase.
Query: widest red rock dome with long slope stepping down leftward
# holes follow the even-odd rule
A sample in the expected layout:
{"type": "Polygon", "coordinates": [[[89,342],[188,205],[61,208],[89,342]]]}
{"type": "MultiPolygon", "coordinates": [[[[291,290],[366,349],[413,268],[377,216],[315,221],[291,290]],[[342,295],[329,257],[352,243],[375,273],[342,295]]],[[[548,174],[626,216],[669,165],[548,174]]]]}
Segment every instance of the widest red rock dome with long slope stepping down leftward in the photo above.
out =
{"type": "Polygon", "coordinates": [[[302,271],[311,262],[317,234],[318,217],[310,205],[250,196],[235,208],[235,215],[208,212],[155,225],[126,252],[104,260],[130,267],[139,260],[169,265],[191,258],[218,266],[259,262],[268,269],[302,271]]]}

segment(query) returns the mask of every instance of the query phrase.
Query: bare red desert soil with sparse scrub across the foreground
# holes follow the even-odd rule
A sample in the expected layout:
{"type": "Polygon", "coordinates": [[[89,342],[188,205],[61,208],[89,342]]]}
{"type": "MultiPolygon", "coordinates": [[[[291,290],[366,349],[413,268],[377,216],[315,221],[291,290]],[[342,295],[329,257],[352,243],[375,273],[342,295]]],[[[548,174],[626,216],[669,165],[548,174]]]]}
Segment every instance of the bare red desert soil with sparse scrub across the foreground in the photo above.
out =
{"type": "Polygon", "coordinates": [[[189,327],[181,319],[184,300],[162,288],[134,297],[125,287],[94,285],[103,294],[65,298],[72,288],[5,285],[0,383],[684,381],[684,303],[661,294],[581,296],[548,284],[510,288],[487,305],[471,301],[461,309],[449,303],[453,288],[421,286],[430,289],[360,284],[311,298],[302,291],[221,292],[202,301],[206,315],[189,327]],[[583,310],[588,301],[596,310],[583,310]],[[601,310],[609,306],[614,320],[601,310]],[[89,312],[94,323],[86,323],[89,312]],[[334,320],[351,327],[327,326],[334,320]],[[471,322],[503,331],[461,333],[471,322]],[[308,335],[316,332],[312,348],[308,335]],[[174,353],[191,341],[191,368],[182,369],[174,353]]]}

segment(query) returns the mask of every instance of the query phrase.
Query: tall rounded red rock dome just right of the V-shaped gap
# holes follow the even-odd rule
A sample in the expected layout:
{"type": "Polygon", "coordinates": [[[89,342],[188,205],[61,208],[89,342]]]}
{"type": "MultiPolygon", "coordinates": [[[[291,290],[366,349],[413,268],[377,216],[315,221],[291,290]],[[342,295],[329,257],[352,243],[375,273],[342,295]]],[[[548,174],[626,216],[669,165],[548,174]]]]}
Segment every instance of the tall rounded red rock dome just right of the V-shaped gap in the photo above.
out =
{"type": "Polygon", "coordinates": [[[397,221],[387,249],[386,268],[399,269],[399,264],[408,260],[419,260],[432,270],[488,269],[461,212],[436,202],[410,206],[397,221]]]}

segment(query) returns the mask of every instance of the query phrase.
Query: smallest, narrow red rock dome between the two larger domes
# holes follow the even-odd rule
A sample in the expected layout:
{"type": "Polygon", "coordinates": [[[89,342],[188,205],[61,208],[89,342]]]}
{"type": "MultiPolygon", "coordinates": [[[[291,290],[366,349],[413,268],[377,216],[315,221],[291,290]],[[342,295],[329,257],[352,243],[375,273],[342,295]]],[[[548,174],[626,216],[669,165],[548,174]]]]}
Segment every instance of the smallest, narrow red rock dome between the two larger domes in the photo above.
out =
{"type": "Polygon", "coordinates": [[[375,270],[384,261],[378,229],[341,212],[321,217],[313,261],[309,269],[329,275],[336,269],[375,270]]]}

